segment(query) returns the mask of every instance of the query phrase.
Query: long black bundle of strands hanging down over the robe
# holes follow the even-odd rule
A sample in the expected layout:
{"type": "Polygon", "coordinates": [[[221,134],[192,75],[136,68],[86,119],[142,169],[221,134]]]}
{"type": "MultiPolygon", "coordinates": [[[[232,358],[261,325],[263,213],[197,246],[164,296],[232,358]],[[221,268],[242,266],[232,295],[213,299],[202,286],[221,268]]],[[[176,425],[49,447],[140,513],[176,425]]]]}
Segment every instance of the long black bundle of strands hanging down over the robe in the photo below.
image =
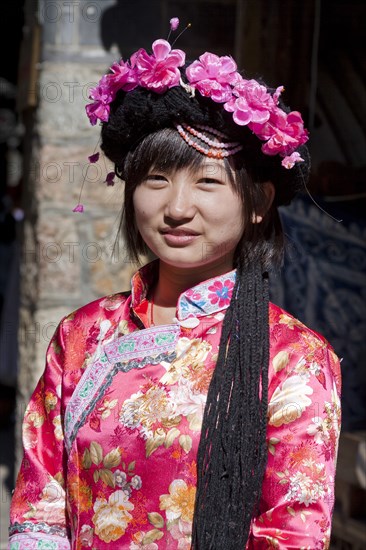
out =
{"type": "Polygon", "coordinates": [[[240,265],[223,324],[197,457],[194,550],[242,550],[266,465],[268,277],[240,265]]]}

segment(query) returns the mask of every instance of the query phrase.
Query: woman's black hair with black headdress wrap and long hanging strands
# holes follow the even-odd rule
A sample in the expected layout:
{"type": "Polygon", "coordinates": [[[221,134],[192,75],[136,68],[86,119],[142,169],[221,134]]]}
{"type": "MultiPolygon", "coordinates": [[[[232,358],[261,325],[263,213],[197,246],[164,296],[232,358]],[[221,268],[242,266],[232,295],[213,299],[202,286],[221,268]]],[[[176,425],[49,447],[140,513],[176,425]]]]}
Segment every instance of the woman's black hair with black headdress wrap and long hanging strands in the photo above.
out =
{"type": "MultiPolygon", "coordinates": [[[[286,109],[281,105],[284,110],[286,109]]],[[[272,182],[275,200],[262,223],[246,223],[235,254],[236,283],[222,327],[219,355],[207,395],[197,456],[197,493],[192,548],[245,548],[251,520],[258,512],[266,465],[269,366],[268,269],[281,259],[283,231],[277,206],[288,204],[304,186],[305,162],[291,170],[280,158],[263,154],[262,142],[232,120],[223,106],[176,86],[165,94],[137,88],[118,92],[102,126],[102,150],[125,180],[125,237],[131,255],[145,251],[133,211],[136,187],[152,168],[198,167],[205,158],[179,136],[176,124],[208,125],[239,141],[230,159],[232,184],[250,220],[266,201],[272,182]]]]}

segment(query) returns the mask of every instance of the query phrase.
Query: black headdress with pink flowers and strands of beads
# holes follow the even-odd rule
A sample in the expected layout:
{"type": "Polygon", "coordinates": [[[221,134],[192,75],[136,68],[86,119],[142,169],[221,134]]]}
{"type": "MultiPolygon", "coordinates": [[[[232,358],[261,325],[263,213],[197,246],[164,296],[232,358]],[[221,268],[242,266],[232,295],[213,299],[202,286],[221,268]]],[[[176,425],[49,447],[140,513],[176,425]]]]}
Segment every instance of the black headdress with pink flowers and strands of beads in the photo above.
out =
{"type": "MultiPolygon", "coordinates": [[[[170,24],[175,31],[178,18],[170,24]]],[[[205,52],[186,63],[184,51],[159,39],[151,53],[141,48],[129,60],[112,64],[90,90],[92,103],[86,106],[86,113],[92,125],[102,124],[107,156],[119,168],[128,151],[146,135],[175,127],[190,146],[213,158],[234,155],[242,149],[241,141],[253,136],[261,144],[261,153],[267,158],[279,155],[281,165],[291,169],[307,154],[302,146],[308,131],[299,112],[288,112],[282,106],[283,90],[283,86],[269,90],[257,80],[245,79],[230,56],[205,52]],[[116,123],[111,121],[115,112],[119,117],[116,123]],[[228,128],[230,138],[226,136],[228,128]]],[[[95,151],[89,157],[91,163],[98,159],[95,151]]],[[[114,184],[114,176],[114,172],[107,174],[107,185],[114,184]]],[[[84,210],[80,203],[84,182],[75,212],[84,210]]],[[[277,190],[277,204],[289,200],[277,190]]]]}

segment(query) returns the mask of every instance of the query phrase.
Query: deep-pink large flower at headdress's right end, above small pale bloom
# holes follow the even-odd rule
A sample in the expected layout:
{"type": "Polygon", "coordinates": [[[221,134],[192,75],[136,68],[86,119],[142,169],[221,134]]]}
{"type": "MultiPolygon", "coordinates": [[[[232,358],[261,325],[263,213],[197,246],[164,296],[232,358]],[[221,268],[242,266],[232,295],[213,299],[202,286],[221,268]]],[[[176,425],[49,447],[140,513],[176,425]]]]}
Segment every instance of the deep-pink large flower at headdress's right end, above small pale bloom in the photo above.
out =
{"type": "Polygon", "coordinates": [[[262,145],[262,151],[266,155],[291,155],[309,139],[301,114],[297,111],[285,113],[276,108],[271,112],[268,122],[263,125],[253,123],[249,128],[259,139],[266,141],[262,145]]]}

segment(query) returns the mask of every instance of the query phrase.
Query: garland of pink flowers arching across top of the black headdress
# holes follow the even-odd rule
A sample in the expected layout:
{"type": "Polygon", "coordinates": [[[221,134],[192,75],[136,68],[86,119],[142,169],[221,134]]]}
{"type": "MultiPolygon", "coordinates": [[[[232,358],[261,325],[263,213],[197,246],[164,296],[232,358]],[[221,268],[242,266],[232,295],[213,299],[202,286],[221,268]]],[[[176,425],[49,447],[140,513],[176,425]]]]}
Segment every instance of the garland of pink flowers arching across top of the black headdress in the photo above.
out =
{"type": "MultiPolygon", "coordinates": [[[[171,31],[178,24],[178,18],[172,18],[171,31]]],[[[139,86],[164,94],[170,88],[183,86],[192,96],[198,92],[221,103],[232,113],[235,124],[247,126],[263,141],[265,155],[282,157],[284,168],[291,169],[303,160],[294,153],[308,141],[308,131],[299,112],[287,113],[279,106],[283,86],[271,93],[257,80],[243,78],[231,56],[205,52],[184,70],[185,58],[185,52],[173,49],[167,40],[158,39],[152,45],[152,53],[140,48],[128,61],[121,59],[114,63],[111,72],[90,92],[93,103],[86,106],[90,123],[108,121],[110,104],[119,90],[130,92],[139,86]]]]}

